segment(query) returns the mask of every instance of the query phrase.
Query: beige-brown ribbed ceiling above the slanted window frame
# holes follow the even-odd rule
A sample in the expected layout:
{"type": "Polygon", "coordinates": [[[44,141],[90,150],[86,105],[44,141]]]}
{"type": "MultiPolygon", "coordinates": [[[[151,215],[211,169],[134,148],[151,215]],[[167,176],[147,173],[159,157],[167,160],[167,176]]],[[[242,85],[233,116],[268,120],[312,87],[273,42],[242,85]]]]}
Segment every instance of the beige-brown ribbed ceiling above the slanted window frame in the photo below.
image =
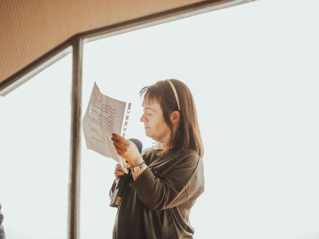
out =
{"type": "Polygon", "coordinates": [[[77,33],[191,4],[249,0],[1,0],[0,83],[77,33]]]}

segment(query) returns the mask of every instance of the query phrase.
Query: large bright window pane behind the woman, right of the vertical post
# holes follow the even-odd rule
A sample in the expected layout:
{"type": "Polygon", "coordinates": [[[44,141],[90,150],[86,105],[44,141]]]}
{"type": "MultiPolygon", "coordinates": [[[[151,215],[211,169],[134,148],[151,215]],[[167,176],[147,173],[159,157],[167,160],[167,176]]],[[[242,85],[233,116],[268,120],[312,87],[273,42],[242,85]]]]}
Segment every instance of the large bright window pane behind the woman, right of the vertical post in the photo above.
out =
{"type": "MultiPolygon", "coordinates": [[[[84,45],[82,112],[94,82],[132,102],[126,137],[144,148],[139,91],[168,78],[192,91],[205,149],[194,238],[319,237],[318,7],[260,0],[84,45]]],[[[81,155],[81,237],[110,238],[116,162],[83,137],[81,155]]]]}

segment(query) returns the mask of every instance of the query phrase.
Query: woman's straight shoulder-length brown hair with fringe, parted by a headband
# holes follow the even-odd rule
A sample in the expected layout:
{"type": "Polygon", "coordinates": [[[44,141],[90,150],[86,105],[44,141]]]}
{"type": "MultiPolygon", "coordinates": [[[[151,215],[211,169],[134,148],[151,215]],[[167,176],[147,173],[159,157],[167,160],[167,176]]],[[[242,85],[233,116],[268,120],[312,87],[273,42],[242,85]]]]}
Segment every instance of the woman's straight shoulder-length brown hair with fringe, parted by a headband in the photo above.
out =
{"type": "Polygon", "coordinates": [[[166,124],[170,129],[170,139],[167,147],[160,151],[158,155],[164,155],[169,149],[186,151],[195,150],[200,157],[204,155],[203,143],[199,131],[197,112],[193,96],[189,88],[181,81],[169,79],[177,92],[180,105],[180,122],[175,135],[173,126],[169,119],[170,113],[178,111],[177,101],[174,92],[167,81],[158,81],[154,85],[146,86],[140,91],[140,96],[144,95],[144,100],[148,103],[158,103],[166,124]]]}

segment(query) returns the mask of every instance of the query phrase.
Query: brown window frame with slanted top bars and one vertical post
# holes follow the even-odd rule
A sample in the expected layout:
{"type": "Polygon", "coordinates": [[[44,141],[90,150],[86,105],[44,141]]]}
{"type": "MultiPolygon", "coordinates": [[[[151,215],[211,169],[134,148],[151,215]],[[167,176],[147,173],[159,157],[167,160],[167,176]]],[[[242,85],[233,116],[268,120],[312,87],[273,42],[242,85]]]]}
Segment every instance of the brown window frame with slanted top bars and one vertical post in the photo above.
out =
{"type": "Polygon", "coordinates": [[[0,83],[0,96],[5,96],[65,55],[72,53],[72,103],[70,139],[70,177],[68,202],[68,239],[79,238],[80,126],[82,98],[83,44],[221,8],[255,0],[204,0],[148,16],[76,34],[22,70],[0,83]]]}

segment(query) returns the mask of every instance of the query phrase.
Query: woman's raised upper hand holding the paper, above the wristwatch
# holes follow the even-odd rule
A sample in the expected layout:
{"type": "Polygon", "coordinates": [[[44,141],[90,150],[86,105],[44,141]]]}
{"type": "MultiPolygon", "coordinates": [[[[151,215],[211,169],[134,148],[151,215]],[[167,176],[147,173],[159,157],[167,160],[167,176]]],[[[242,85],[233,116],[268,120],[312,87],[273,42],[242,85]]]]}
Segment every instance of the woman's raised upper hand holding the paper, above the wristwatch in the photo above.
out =
{"type": "Polygon", "coordinates": [[[112,133],[111,140],[113,141],[114,147],[118,154],[124,158],[131,167],[139,165],[143,162],[143,158],[135,143],[127,140],[117,133],[112,133]]]}

